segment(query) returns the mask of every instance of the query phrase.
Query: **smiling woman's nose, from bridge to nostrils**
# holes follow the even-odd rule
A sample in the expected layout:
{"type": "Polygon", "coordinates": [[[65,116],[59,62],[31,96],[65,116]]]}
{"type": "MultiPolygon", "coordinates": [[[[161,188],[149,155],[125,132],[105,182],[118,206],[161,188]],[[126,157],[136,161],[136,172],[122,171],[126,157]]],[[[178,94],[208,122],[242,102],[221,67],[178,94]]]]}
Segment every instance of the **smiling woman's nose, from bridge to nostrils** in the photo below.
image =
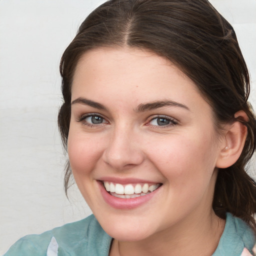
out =
{"type": "Polygon", "coordinates": [[[116,170],[124,170],[139,165],[144,160],[139,146],[139,134],[129,128],[116,128],[109,136],[103,152],[103,160],[116,170]]]}

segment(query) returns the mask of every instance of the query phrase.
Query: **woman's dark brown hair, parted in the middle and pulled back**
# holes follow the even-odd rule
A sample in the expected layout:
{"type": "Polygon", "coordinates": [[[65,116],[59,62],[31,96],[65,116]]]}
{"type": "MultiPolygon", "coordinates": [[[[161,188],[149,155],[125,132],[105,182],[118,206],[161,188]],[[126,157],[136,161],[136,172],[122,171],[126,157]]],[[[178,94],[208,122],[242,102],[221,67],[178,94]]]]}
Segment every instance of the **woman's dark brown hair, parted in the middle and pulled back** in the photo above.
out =
{"type": "MultiPolygon", "coordinates": [[[[249,74],[232,26],[207,0],[109,0],[92,11],[63,53],[60,62],[63,104],[58,125],[66,149],[70,121],[70,88],[80,56],[95,47],[148,49],[174,62],[198,86],[211,105],[215,124],[235,121],[243,110],[247,138],[239,159],[220,169],[212,202],[215,213],[231,212],[256,226],[256,185],[245,172],[255,151],[256,123],[247,102],[249,74]]],[[[69,163],[65,192],[69,186],[69,163]]]]}

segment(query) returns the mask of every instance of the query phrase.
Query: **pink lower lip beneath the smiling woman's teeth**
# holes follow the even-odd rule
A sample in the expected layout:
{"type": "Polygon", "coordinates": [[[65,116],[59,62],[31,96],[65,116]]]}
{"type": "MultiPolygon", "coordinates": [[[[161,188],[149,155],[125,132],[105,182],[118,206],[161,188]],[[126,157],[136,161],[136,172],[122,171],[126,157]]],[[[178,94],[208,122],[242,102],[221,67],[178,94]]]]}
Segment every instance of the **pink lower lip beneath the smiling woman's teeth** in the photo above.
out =
{"type": "Polygon", "coordinates": [[[153,196],[155,196],[158,193],[158,190],[160,188],[159,187],[148,194],[141,195],[135,198],[119,198],[109,194],[105,190],[105,187],[101,181],[98,181],[98,183],[99,183],[100,192],[105,202],[109,204],[111,207],[117,208],[117,209],[132,209],[132,208],[138,207],[141,204],[149,201],[153,196]]]}

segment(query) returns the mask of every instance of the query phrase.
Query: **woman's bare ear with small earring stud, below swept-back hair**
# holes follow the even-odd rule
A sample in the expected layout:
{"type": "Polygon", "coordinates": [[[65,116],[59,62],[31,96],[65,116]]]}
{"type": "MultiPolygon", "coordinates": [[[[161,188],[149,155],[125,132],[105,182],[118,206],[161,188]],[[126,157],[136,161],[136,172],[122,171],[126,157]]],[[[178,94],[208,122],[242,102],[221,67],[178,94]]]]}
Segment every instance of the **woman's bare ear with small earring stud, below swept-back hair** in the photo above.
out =
{"type": "Polygon", "coordinates": [[[216,167],[226,168],[234,164],[239,158],[247,135],[247,127],[238,120],[248,121],[248,116],[243,110],[234,114],[236,119],[232,124],[226,125],[223,143],[221,144],[216,167]]]}

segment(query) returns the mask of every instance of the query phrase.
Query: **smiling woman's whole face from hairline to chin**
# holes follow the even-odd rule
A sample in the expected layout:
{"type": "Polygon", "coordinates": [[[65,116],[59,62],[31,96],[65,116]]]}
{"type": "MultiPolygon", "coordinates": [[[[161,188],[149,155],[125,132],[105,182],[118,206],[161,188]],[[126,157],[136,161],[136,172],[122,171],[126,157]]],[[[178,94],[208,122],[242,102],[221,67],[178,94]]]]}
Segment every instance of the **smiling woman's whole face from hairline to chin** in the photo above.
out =
{"type": "Polygon", "coordinates": [[[134,48],[90,50],[71,95],[70,166],[110,236],[140,240],[213,212],[220,139],[209,104],[173,63],[134,48]]]}

